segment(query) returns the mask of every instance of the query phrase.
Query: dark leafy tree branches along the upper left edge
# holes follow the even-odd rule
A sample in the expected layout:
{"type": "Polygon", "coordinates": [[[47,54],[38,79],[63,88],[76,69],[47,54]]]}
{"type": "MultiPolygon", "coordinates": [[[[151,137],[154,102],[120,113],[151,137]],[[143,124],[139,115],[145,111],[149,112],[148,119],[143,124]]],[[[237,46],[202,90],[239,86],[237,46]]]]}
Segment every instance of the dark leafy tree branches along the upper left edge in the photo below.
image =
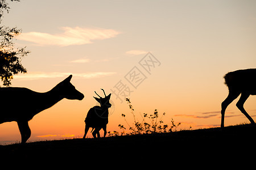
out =
{"type": "MultiPolygon", "coordinates": [[[[19,0],[11,0],[19,1],[19,0]]],[[[0,1],[0,24],[3,13],[9,12],[10,7],[6,0],[0,1]]],[[[27,73],[27,70],[20,63],[21,58],[26,56],[29,51],[24,48],[14,48],[13,39],[21,33],[21,29],[0,27],[0,77],[3,86],[10,86],[14,74],[27,73]]]]}

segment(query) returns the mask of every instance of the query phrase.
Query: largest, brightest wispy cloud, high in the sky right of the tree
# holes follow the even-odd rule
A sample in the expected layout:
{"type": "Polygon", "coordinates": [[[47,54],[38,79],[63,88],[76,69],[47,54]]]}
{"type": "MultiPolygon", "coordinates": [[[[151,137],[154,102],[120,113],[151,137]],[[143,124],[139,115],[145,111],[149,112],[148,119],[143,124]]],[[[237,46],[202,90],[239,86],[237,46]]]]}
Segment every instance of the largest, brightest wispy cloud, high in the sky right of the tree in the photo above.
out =
{"type": "Polygon", "coordinates": [[[117,36],[120,32],[114,29],[103,28],[80,28],[61,27],[64,32],[50,34],[44,32],[21,33],[16,37],[18,40],[30,41],[39,46],[46,45],[82,45],[90,44],[92,40],[104,40],[117,36]]]}

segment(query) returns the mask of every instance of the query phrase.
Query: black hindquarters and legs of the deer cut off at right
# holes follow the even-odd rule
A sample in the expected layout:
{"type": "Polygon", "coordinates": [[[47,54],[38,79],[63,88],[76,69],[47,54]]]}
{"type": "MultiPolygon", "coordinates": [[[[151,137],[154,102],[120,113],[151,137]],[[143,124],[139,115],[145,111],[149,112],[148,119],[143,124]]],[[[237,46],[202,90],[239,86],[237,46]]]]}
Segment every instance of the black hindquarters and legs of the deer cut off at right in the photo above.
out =
{"type": "Polygon", "coordinates": [[[255,124],[253,118],[243,108],[243,104],[250,95],[256,95],[256,69],[237,70],[229,72],[224,76],[225,84],[229,88],[229,95],[221,103],[221,128],[224,128],[224,117],[226,108],[234,99],[240,94],[236,106],[240,111],[245,114],[251,124],[255,124]]]}

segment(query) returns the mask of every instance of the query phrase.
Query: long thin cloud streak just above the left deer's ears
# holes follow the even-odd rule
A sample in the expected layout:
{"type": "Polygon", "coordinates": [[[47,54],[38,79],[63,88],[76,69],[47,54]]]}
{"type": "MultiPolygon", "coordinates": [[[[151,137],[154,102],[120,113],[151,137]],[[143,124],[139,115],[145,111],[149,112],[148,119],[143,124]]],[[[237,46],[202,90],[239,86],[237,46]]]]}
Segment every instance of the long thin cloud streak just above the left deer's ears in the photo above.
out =
{"type": "Polygon", "coordinates": [[[77,78],[101,78],[104,76],[110,76],[116,74],[115,72],[92,72],[92,73],[58,73],[58,72],[30,72],[27,74],[19,74],[15,75],[15,79],[22,79],[22,80],[36,80],[36,79],[43,79],[43,78],[59,78],[65,77],[68,75],[73,75],[77,78]]]}

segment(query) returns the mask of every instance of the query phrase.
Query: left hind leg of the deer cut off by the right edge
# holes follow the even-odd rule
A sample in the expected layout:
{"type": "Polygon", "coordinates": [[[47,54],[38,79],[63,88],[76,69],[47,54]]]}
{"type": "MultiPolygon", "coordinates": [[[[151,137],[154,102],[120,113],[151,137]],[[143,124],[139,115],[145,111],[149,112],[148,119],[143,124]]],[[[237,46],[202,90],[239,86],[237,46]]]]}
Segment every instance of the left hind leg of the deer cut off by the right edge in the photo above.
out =
{"type": "Polygon", "coordinates": [[[221,128],[224,128],[224,118],[225,118],[225,111],[226,108],[233,100],[235,100],[241,92],[238,91],[229,91],[228,97],[221,103],[221,128]]]}

